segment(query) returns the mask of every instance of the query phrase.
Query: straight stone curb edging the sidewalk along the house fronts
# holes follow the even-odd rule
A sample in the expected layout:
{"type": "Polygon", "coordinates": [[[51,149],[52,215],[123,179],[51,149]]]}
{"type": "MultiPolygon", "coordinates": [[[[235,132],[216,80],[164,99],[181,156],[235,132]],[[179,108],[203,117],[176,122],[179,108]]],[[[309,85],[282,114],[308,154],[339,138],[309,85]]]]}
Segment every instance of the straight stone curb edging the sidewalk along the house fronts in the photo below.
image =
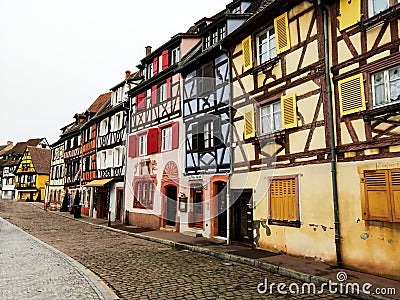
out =
{"type": "MultiPolygon", "coordinates": [[[[156,237],[151,237],[151,236],[146,236],[146,235],[142,235],[139,233],[133,233],[133,232],[128,232],[128,231],[124,231],[121,229],[116,229],[116,228],[112,228],[112,227],[108,227],[105,225],[101,225],[101,224],[94,224],[94,223],[90,223],[87,222],[85,220],[82,219],[75,219],[69,215],[64,215],[61,214],[58,211],[52,211],[52,213],[56,213],[57,215],[63,216],[65,218],[68,219],[72,219],[75,221],[79,221],[85,224],[89,224],[92,226],[97,226],[97,227],[101,227],[101,228],[105,228],[114,232],[118,232],[118,233],[122,233],[122,234],[126,234],[135,238],[139,238],[142,240],[147,240],[147,241],[151,241],[151,242],[155,242],[155,243],[159,243],[159,244],[163,244],[163,245],[167,245],[167,246],[171,246],[177,249],[184,249],[184,250],[188,250],[188,251],[192,251],[195,253],[201,253],[201,254],[205,254],[205,255],[209,255],[215,258],[219,258],[219,259],[223,259],[223,260],[229,260],[232,262],[236,262],[236,263],[240,263],[240,264],[245,264],[248,266],[252,266],[261,270],[265,270],[268,271],[270,273],[273,274],[279,274],[285,277],[289,277],[289,278],[293,278],[293,279],[297,279],[300,280],[302,282],[305,283],[314,283],[316,286],[321,286],[323,283],[329,283],[329,279],[321,277],[321,276],[316,276],[316,275],[311,275],[311,274],[306,274],[306,273],[302,273],[302,272],[298,272],[289,268],[285,268],[282,266],[276,266],[270,263],[266,263],[266,262],[261,262],[255,259],[251,259],[251,258],[247,258],[247,257],[241,257],[241,256],[237,256],[234,254],[229,254],[229,253],[225,253],[225,252],[218,252],[218,251],[214,251],[214,250],[210,250],[204,247],[199,247],[199,246],[192,246],[192,245],[187,245],[187,244],[183,244],[183,243],[179,243],[179,242],[173,242],[173,241],[169,241],[169,240],[165,240],[165,239],[160,239],[160,238],[156,238],[156,237]]],[[[366,294],[362,291],[360,291],[359,294],[357,293],[349,293],[347,294],[348,296],[352,296],[354,298],[357,299],[363,299],[363,300],[392,300],[391,298],[386,298],[386,297],[382,297],[382,296],[378,296],[378,295],[372,295],[372,294],[366,294]]]]}

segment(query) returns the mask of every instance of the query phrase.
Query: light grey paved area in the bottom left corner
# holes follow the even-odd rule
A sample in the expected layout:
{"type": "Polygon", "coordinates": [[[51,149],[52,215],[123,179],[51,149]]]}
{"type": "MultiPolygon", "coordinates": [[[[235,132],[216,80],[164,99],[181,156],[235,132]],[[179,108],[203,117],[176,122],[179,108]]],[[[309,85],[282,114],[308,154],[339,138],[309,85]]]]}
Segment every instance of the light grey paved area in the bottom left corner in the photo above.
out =
{"type": "Polygon", "coordinates": [[[104,299],[64,256],[0,218],[0,299],[104,299]]]}

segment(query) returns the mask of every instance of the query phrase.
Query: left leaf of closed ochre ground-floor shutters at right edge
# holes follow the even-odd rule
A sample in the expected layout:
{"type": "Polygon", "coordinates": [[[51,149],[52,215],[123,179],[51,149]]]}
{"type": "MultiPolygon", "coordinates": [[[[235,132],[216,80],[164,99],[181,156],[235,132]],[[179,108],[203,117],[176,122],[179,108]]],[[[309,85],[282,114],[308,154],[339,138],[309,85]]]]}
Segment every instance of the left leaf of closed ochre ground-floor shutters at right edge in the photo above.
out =
{"type": "Polygon", "coordinates": [[[390,193],[386,170],[365,171],[365,220],[390,221],[390,193]]]}

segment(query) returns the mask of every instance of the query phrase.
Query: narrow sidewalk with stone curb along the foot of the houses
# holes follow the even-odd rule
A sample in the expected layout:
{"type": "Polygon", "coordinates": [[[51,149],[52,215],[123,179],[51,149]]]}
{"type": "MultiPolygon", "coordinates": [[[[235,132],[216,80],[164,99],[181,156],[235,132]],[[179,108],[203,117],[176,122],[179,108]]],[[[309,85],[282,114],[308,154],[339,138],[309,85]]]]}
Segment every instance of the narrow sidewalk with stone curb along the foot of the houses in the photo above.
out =
{"type": "MultiPolygon", "coordinates": [[[[52,213],[73,219],[73,215],[69,213],[60,213],[58,211],[52,213]]],[[[95,226],[107,227],[107,220],[105,219],[93,219],[83,216],[82,219],[75,220],[93,224],[95,226]]],[[[340,283],[337,279],[338,273],[340,273],[342,276],[347,275],[347,280],[342,281],[343,284],[358,283],[360,293],[358,295],[357,293],[352,294],[355,298],[400,299],[399,281],[348,269],[337,268],[310,259],[297,258],[260,249],[252,249],[242,245],[227,246],[224,241],[216,239],[191,237],[177,232],[146,229],[115,222],[112,223],[111,226],[112,227],[107,228],[137,238],[211,255],[231,262],[254,266],[271,273],[299,279],[303,282],[315,283],[317,286],[323,283],[329,283],[329,281],[340,283]],[[371,286],[365,284],[370,284],[371,286]],[[362,292],[363,286],[365,286],[367,293],[362,292]],[[395,295],[393,295],[393,289],[395,289],[395,295]],[[370,293],[368,293],[368,291],[370,293]],[[382,293],[385,293],[386,296],[379,296],[377,295],[378,292],[381,292],[381,295],[382,293]],[[389,295],[389,293],[392,294],[389,295]]],[[[328,286],[326,286],[325,289],[328,290],[328,286]]]]}

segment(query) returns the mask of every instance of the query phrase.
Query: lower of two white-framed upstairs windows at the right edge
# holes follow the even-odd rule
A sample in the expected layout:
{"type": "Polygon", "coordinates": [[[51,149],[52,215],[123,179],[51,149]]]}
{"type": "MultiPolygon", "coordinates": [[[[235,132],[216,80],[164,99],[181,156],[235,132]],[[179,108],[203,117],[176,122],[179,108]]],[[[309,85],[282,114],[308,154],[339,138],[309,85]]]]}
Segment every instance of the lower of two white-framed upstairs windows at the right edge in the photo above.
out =
{"type": "Polygon", "coordinates": [[[400,101],[400,66],[372,75],[374,106],[400,101]]]}

